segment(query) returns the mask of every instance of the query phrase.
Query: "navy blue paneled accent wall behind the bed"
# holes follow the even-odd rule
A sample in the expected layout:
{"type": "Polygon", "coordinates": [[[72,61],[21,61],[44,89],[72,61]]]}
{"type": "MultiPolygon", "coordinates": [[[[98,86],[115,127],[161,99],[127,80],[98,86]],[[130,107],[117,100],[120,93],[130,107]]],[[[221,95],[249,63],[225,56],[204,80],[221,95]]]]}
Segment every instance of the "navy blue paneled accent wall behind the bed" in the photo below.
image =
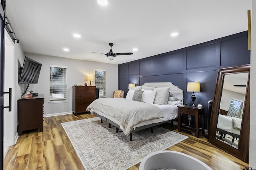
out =
{"type": "Polygon", "coordinates": [[[145,82],[172,82],[184,90],[184,102],[191,102],[187,83],[200,82],[201,92],[195,92],[195,104],[202,104],[207,112],[207,103],[214,97],[218,69],[243,64],[250,64],[247,31],[119,64],[118,88],[127,93],[128,83],[140,86],[145,82]]]}

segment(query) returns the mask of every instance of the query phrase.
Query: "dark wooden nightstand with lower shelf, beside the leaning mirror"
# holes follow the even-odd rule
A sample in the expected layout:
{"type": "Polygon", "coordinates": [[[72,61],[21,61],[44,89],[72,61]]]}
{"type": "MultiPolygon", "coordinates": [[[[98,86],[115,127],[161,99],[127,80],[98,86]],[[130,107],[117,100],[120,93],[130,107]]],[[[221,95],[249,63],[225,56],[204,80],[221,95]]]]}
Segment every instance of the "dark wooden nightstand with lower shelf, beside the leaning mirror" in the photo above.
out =
{"type": "Polygon", "coordinates": [[[204,135],[204,109],[205,109],[205,107],[193,108],[193,107],[188,107],[188,106],[186,106],[186,107],[178,106],[178,131],[180,132],[180,129],[184,129],[186,131],[194,132],[194,133],[196,133],[196,137],[199,137],[199,132],[202,131],[202,133],[204,135]],[[181,114],[184,114],[185,125],[182,125],[181,114]],[[195,121],[196,121],[195,128],[188,127],[188,125],[186,123],[188,120],[188,115],[195,116],[195,121]],[[201,116],[201,121],[202,121],[201,128],[198,126],[198,121],[199,121],[200,116],[201,116]]]}

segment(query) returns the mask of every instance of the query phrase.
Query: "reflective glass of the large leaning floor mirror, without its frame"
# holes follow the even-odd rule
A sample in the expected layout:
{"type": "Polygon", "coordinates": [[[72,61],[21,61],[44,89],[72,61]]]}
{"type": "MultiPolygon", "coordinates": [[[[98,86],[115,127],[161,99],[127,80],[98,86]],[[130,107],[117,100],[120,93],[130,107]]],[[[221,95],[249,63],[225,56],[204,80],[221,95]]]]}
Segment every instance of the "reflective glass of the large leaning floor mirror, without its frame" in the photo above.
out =
{"type": "Polygon", "coordinates": [[[224,75],[215,138],[238,149],[248,72],[224,75]]]}

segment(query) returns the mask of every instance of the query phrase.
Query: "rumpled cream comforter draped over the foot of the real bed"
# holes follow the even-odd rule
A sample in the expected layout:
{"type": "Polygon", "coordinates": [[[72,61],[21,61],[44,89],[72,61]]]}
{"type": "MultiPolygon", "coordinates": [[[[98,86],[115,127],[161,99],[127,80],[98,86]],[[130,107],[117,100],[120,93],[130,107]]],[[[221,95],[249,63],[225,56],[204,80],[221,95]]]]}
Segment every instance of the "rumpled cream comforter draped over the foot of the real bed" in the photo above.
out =
{"type": "Polygon", "coordinates": [[[87,111],[91,109],[117,119],[126,135],[140,122],[164,117],[158,106],[124,98],[99,98],[87,107],[87,111]]]}

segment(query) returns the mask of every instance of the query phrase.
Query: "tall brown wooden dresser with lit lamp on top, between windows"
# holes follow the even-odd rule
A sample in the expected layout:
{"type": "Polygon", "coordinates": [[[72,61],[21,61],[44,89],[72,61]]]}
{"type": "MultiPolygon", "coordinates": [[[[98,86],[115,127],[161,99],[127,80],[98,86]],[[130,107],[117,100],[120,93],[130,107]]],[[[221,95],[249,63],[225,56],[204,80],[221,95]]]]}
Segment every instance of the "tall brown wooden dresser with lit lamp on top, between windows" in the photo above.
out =
{"type": "Polygon", "coordinates": [[[87,112],[86,107],[95,99],[96,86],[73,86],[73,113],[77,115],[87,112]]]}

